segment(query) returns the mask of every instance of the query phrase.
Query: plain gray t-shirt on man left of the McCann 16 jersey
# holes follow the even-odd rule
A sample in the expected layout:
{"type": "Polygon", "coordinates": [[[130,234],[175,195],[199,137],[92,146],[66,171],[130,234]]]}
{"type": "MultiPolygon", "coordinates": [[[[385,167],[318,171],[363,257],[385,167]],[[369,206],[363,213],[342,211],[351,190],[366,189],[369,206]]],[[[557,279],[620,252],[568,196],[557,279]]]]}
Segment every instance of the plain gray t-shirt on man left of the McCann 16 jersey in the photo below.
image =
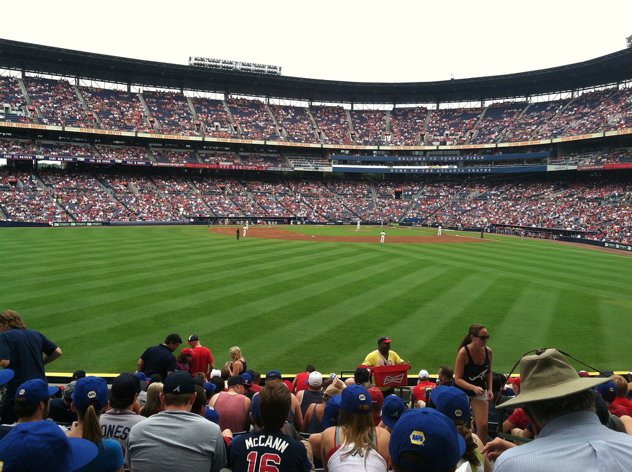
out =
{"type": "Polygon", "coordinates": [[[176,409],[133,426],[127,453],[134,472],[217,472],[226,466],[219,427],[200,415],[176,409]]]}

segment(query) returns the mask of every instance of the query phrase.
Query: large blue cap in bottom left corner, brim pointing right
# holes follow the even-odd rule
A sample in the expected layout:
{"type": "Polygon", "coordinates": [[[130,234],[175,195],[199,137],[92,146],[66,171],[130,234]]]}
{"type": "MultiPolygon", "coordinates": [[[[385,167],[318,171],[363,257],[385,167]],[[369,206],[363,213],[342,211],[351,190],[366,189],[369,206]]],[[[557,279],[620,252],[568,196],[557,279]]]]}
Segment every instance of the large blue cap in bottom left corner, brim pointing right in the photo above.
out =
{"type": "Polygon", "coordinates": [[[97,445],[69,438],[54,421],[18,423],[0,441],[3,472],[73,472],[97,456],[97,445]]]}

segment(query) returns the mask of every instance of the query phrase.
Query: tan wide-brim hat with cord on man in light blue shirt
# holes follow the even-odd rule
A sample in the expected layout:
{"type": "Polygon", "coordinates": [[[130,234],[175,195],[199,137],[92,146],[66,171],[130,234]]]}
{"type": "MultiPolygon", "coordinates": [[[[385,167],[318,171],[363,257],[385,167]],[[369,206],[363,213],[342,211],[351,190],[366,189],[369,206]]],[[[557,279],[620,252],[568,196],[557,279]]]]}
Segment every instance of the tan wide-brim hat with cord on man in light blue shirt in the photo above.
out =
{"type": "Polygon", "coordinates": [[[513,408],[534,401],[561,398],[609,380],[607,377],[580,377],[557,349],[545,349],[520,360],[520,394],[496,408],[513,408]]]}

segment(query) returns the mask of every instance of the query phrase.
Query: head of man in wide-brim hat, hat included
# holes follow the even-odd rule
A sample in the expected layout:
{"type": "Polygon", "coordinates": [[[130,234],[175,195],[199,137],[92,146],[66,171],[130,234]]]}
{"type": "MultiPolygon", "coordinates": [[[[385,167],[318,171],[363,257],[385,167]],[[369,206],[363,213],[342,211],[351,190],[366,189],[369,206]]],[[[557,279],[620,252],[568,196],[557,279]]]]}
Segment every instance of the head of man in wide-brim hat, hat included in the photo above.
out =
{"type": "Polygon", "coordinates": [[[496,408],[521,406],[538,434],[554,418],[575,411],[595,411],[588,389],[608,380],[582,378],[557,349],[541,349],[520,360],[520,394],[496,408]]]}

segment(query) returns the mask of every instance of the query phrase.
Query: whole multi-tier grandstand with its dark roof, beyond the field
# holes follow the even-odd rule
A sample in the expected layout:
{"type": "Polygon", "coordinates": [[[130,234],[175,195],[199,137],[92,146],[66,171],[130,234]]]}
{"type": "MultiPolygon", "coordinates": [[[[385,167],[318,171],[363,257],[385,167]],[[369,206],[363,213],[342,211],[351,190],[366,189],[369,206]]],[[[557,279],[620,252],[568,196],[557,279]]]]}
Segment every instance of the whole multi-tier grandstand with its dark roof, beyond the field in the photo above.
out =
{"type": "Polygon", "coordinates": [[[5,222],[359,218],[631,240],[629,49],[432,83],[10,40],[0,40],[0,68],[5,222]]]}

